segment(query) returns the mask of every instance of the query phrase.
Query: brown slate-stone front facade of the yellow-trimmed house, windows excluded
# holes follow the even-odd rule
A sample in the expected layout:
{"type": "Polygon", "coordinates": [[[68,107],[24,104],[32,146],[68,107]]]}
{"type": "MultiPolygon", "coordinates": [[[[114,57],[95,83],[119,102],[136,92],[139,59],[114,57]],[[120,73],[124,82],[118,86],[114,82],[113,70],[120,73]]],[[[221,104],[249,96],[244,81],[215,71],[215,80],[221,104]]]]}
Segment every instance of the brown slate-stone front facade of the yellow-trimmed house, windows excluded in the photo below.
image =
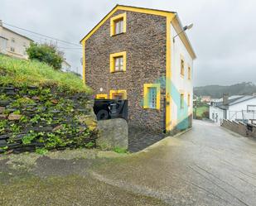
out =
{"type": "MultiPolygon", "coordinates": [[[[125,11],[117,11],[112,17],[125,11]]],[[[127,32],[110,36],[110,19],[85,42],[85,80],[94,93],[127,90],[128,124],[165,128],[166,18],[127,12],[127,32]],[[109,55],[127,52],[126,72],[109,72],[109,55]],[[161,109],[143,109],[143,84],[162,83],[161,109]],[[101,92],[99,89],[103,88],[101,92]]]]}

